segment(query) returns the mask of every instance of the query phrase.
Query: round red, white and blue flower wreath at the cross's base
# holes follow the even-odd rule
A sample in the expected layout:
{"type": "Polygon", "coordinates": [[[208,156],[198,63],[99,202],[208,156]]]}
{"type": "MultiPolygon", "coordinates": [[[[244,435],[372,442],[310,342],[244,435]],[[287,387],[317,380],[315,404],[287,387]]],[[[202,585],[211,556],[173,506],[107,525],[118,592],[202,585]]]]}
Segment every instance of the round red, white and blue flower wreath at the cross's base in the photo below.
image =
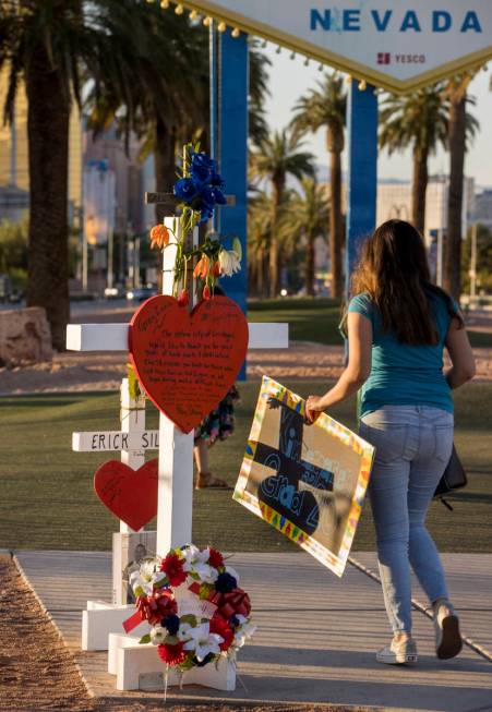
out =
{"type": "Polygon", "coordinates": [[[163,662],[181,674],[221,657],[231,662],[255,628],[251,602],[239,588],[238,574],[215,548],[193,544],[171,550],[165,558],[147,558],[130,583],[136,613],[123,624],[129,632],[142,620],[163,662]]]}

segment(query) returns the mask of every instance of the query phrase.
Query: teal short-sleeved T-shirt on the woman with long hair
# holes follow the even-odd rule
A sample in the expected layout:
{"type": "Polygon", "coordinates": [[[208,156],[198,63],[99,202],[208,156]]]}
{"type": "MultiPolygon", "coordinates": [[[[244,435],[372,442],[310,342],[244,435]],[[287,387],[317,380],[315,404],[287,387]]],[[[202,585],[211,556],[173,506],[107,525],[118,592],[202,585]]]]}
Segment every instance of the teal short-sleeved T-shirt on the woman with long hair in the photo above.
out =
{"type": "MultiPolygon", "coordinates": [[[[359,394],[359,417],[383,406],[430,406],[453,412],[453,397],[443,374],[443,350],[452,316],[442,297],[429,293],[439,342],[409,346],[394,331],[383,331],[380,311],[367,293],[350,301],[348,311],[362,314],[372,324],[371,374],[359,394]]],[[[457,304],[454,303],[456,312],[457,304]]]]}

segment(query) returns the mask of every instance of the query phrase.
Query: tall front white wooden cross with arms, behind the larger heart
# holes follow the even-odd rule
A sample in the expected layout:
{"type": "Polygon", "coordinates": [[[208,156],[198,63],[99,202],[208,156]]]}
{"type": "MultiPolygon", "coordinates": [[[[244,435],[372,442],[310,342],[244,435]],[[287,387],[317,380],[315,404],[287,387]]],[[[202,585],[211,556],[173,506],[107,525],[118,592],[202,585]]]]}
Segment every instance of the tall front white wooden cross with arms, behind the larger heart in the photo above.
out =
{"type": "MultiPolygon", "coordinates": [[[[176,198],[167,194],[146,194],[147,203],[166,202],[165,225],[173,227],[176,198]]],[[[233,198],[228,197],[228,204],[233,198]]],[[[197,228],[193,243],[197,244],[197,228]]],[[[176,241],[164,251],[163,293],[172,294],[176,264],[176,241]]],[[[190,290],[193,294],[194,290],[190,290]]],[[[249,325],[249,348],[287,348],[287,324],[249,325]]],[[[127,351],[127,324],[69,324],[67,348],[74,351],[127,351]]],[[[159,482],[157,509],[157,552],[192,541],[193,504],[193,433],[182,433],[164,414],[159,419],[159,482]]]]}

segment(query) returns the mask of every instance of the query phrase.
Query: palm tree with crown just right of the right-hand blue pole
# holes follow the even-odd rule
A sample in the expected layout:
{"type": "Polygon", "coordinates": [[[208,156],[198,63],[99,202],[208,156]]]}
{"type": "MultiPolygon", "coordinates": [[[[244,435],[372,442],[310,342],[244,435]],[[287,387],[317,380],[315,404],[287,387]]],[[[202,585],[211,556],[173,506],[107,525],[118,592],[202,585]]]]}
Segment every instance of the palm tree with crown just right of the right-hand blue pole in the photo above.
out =
{"type": "Polygon", "coordinates": [[[449,102],[442,84],[434,84],[408,96],[389,95],[380,112],[380,145],[392,155],[411,147],[413,177],[411,221],[423,233],[428,160],[439,144],[446,146],[449,102]]]}

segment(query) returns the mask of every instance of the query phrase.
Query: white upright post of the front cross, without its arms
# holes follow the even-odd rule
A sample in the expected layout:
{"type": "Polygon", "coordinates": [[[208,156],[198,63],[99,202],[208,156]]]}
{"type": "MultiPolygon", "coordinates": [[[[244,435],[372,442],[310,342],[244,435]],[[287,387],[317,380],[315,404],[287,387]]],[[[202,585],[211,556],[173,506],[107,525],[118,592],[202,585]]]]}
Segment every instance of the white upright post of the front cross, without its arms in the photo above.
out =
{"type": "MultiPolygon", "coordinates": [[[[178,221],[166,218],[172,228],[178,221]]],[[[179,236],[178,236],[179,237],[179,236]]],[[[193,231],[193,245],[199,230],[193,231]]],[[[172,294],[176,241],[164,251],[163,294],[172,294]]],[[[190,305],[194,293],[190,289],[190,305]]],[[[191,544],[193,509],[193,433],[184,434],[164,414],[159,420],[159,485],[157,504],[157,552],[165,556],[170,548],[191,544]]]]}

